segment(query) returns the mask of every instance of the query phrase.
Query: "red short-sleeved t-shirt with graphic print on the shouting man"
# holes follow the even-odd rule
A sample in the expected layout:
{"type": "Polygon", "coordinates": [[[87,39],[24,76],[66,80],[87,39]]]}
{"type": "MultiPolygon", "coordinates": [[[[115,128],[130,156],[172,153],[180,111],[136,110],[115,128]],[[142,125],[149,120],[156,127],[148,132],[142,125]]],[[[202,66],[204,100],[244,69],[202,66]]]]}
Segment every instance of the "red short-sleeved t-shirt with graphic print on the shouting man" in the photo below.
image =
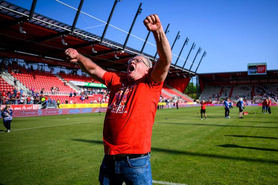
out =
{"type": "Polygon", "coordinates": [[[106,72],[102,79],[111,90],[103,125],[104,152],[145,154],[150,152],[152,127],[163,82],[149,73],[136,82],[106,72]]]}

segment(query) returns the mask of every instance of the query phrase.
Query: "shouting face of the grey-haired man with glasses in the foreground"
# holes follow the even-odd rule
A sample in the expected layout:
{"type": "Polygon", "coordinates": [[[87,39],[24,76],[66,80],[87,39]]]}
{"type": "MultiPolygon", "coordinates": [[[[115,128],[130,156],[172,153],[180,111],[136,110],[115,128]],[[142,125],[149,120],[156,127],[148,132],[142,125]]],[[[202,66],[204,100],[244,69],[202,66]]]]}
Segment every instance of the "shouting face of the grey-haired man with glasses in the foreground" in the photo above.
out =
{"type": "Polygon", "coordinates": [[[135,62],[135,60],[132,60],[130,64],[128,64],[128,68],[127,68],[128,81],[139,80],[149,71],[149,68],[146,66],[147,60],[144,57],[136,56],[133,59],[137,59],[141,62],[137,63],[135,62]],[[145,62],[145,64],[143,63],[142,60],[145,62]]]}

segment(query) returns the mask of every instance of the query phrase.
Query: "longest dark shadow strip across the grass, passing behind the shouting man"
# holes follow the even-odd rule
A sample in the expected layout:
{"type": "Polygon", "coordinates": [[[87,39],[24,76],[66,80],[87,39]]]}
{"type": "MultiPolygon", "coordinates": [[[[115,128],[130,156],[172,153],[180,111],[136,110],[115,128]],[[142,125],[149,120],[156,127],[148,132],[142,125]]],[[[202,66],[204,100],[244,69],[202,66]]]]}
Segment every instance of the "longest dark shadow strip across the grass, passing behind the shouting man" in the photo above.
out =
{"type": "MultiPolygon", "coordinates": [[[[73,141],[80,141],[80,142],[88,142],[93,144],[101,144],[103,145],[103,141],[94,141],[94,140],[85,140],[85,139],[72,139],[73,141]]],[[[166,154],[181,154],[181,155],[189,155],[189,156],[201,156],[201,157],[209,157],[209,158],[218,158],[218,159],[231,159],[231,160],[238,160],[238,161],[252,161],[252,162],[267,162],[272,164],[278,164],[277,160],[269,160],[269,159],[259,159],[259,158],[246,158],[246,157],[234,157],[234,156],[225,156],[219,154],[204,154],[199,152],[187,152],[181,150],[170,150],[164,148],[157,148],[152,147],[152,151],[155,152],[163,152],[166,154]]]]}

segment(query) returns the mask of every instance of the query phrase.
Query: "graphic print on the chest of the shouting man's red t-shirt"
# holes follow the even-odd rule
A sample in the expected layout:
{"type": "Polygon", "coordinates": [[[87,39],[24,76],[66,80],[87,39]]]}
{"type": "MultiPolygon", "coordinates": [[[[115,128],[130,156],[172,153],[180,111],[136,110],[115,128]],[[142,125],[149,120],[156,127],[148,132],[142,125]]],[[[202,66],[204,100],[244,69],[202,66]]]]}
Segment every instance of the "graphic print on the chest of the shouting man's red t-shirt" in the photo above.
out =
{"type": "Polygon", "coordinates": [[[127,113],[125,110],[126,102],[134,85],[135,84],[125,87],[124,84],[122,84],[123,87],[115,93],[113,102],[108,106],[108,109],[111,109],[112,113],[127,113]]]}

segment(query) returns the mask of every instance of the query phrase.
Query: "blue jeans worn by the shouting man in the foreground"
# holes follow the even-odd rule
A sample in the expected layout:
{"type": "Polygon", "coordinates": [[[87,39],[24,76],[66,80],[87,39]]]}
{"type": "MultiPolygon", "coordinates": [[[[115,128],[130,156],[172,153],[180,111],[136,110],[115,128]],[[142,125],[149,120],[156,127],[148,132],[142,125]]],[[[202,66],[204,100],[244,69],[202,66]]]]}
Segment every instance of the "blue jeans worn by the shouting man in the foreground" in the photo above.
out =
{"type": "Polygon", "coordinates": [[[105,154],[99,170],[99,183],[101,185],[152,185],[152,172],[150,154],[123,161],[115,161],[113,157],[105,154]]]}

